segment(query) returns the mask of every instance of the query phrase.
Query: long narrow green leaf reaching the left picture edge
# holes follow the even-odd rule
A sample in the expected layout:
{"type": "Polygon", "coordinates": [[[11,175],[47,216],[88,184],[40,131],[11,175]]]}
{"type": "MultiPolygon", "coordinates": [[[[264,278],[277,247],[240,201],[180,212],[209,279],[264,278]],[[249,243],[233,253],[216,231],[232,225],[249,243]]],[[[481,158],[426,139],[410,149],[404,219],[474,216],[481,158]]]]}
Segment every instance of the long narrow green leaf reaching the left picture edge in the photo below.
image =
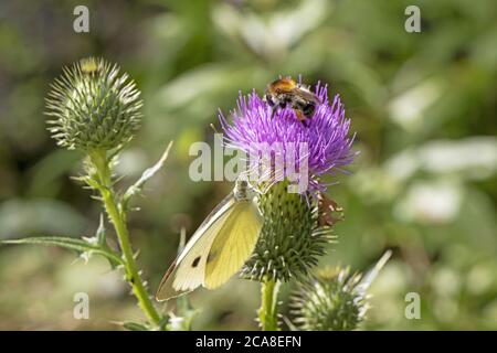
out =
{"type": "Polygon", "coordinates": [[[119,258],[117,254],[112,252],[110,249],[103,248],[97,244],[92,244],[85,239],[78,238],[70,238],[70,237],[61,237],[61,236],[36,236],[36,237],[28,237],[21,239],[11,239],[3,240],[1,244],[32,244],[32,245],[44,245],[44,246],[57,246],[71,250],[75,250],[77,253],[87,254],[89,257],[93,254],[102,255],[106,257],[113,267],[118,265],[123,265],[123,260],[119,258]]]}

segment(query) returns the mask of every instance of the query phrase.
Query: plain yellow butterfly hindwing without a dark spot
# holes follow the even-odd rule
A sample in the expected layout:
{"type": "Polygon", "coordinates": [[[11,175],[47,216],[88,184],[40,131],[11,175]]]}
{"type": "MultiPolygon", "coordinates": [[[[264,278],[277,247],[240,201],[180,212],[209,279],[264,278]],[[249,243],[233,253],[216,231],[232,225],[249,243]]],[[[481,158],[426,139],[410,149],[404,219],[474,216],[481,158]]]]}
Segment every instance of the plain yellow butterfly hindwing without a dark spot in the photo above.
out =
{"type": "Polygon", "coordinates": [[[257,243],[263,217],[253,201],[239,201],[212,243],[205,267],[204,287],[226,282],[248,259],[257,243]]]}

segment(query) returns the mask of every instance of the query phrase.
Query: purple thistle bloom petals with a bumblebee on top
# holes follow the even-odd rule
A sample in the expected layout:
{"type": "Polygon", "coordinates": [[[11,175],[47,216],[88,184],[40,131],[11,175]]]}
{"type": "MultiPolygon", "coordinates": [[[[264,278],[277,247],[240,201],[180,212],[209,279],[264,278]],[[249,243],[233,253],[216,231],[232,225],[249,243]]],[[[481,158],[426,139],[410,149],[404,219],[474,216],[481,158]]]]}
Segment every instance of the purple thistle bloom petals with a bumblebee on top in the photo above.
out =
{"type": "MultiPolygon", "coordinates": [[[[329,104],[327,86],[316,85],[315,94],[321,101],[306,125],[297,119],[296,113],[287,108],[273,108],[257,96],[255,90],[248,97],[240,94],[237,108],[231,113],[229,124],[222,113],[220,120],[225,133],[226,146],[237,148],[248,156],[258,156],[264,143],[279,143],[281,152],[295,153],[294,170],[298,171],[300,161],[307,157],[308,191],[315,195],[325,192],[328,184],[320,176],[346,172],[343,167],[351,163],[357,154],[351,151],[355,136],[348,137],[350,119],[345,117],[345,107],[338,95],[329,104]],[[300,143],[307,146],[306,156],[300,143]]],[[[284,175],[287,171],[284,170],[284,175]]]]}

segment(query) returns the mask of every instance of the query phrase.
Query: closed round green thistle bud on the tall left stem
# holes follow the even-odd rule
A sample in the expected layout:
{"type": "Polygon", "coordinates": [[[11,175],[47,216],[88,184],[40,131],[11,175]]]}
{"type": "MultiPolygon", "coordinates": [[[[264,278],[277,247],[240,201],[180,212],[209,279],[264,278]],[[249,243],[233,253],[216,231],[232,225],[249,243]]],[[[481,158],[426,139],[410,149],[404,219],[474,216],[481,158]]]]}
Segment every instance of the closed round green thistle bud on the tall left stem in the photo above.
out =
{"type": "Polygon", "coordinates": [[[141,118],[140,92],[103,58],[88,57],[66,67],[46,99],[49,130],[67,149],[109,150],[128,142],[141,118]]]}

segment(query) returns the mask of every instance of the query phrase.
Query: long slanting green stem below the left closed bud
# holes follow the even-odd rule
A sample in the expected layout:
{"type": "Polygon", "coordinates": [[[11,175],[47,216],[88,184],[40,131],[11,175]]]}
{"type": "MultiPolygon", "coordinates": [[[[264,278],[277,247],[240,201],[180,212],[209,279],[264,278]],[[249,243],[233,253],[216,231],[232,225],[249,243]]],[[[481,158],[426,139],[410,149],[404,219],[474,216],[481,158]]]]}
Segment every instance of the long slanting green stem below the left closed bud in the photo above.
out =
{"type": "Polygon", "coordinates": [[[119,203],[116,201],[113,186],[112,186],[112,174],[109,168],[109,161],[105,151],[97,150],[89,153],[89,158],[96,169],[97,176],[99,179],[99,192],[102,195],[102,201],[104,203],[105,210],[107,211],[108,217],[114,225],[116,231],[117,239],[119,242],[119,247],[123,253],[126,279],[133,288],[135,297],[138,299],[138,304],[145,314],[151,322],[159,325],[160,315],[145,288],[144,281],[138,272],[138,267],[135,261],[133,254],[133,248],[129,243],[129,232],[126,226],[126,214],[121,210],[119,203]]]}

